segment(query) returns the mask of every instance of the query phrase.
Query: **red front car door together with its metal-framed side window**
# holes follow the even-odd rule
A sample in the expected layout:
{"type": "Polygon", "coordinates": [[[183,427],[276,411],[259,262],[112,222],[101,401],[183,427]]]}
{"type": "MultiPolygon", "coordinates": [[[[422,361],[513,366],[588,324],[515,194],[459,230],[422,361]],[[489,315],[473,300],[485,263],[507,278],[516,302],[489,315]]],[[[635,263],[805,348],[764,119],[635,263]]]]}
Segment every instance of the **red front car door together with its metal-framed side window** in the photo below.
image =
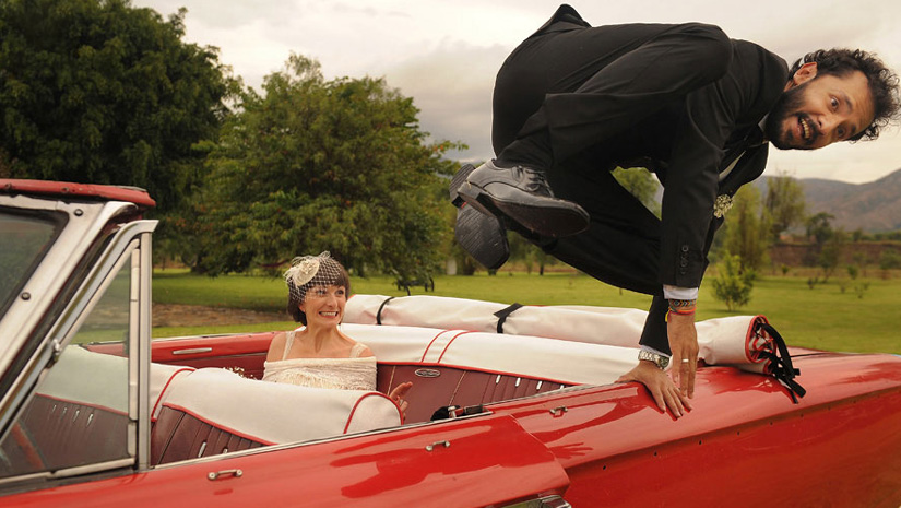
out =
{"type": "Polygon", "coordinates": [[[39,345],[4,394],[14,406],[0,435],[0,504],[565,506],[568,477],[550,451],[515,418],[489,413],[152,466],[154,226],[107,231],[90,273],[36,327],[46,334],[29,338],[39,345]],[[122,355],[81,345],[97,341],[122,355]]]}

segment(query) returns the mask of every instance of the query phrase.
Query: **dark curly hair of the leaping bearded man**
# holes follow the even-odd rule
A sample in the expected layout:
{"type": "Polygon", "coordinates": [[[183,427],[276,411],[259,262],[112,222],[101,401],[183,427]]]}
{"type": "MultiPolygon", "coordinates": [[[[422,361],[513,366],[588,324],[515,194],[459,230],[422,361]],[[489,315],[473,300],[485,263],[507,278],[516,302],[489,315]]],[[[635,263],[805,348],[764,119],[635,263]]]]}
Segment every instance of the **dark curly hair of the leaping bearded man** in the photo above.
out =
{"type": "Polygon", "coordinates": [[[808,62],[817,62],[817,78],[827,74],[845,76],[854,71],[861,71],[866,76],[869,92],[873,95],[873,122],[850,141],[864,138],[875,140],[885,127],[898,120],[899,102],[901,102],[899,101],[898,75],[875,55],[862,49],[818,49],[797,59],[792,66],[790,75],[794,75],[801,66],[808,62]]]}

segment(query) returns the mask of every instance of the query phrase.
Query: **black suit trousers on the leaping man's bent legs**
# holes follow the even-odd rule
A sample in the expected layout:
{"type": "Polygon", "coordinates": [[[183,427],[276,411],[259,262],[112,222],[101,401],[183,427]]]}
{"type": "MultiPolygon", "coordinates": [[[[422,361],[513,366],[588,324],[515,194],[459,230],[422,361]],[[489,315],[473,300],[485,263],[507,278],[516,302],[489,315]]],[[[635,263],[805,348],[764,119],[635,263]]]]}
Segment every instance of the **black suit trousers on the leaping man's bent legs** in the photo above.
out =
{"type": "Polygon", "coordinates": [[[495,153],[549,166],[555,194],[591,215],[585,232],[545,250],[595,279],[654,295],[641,343],[667,353],[661,223],[609,173],[616,161],[604,145],[722,76],[731,50],[722,31],[697,23],[548,32],[521,44],[495,84],[495,153]]]}

